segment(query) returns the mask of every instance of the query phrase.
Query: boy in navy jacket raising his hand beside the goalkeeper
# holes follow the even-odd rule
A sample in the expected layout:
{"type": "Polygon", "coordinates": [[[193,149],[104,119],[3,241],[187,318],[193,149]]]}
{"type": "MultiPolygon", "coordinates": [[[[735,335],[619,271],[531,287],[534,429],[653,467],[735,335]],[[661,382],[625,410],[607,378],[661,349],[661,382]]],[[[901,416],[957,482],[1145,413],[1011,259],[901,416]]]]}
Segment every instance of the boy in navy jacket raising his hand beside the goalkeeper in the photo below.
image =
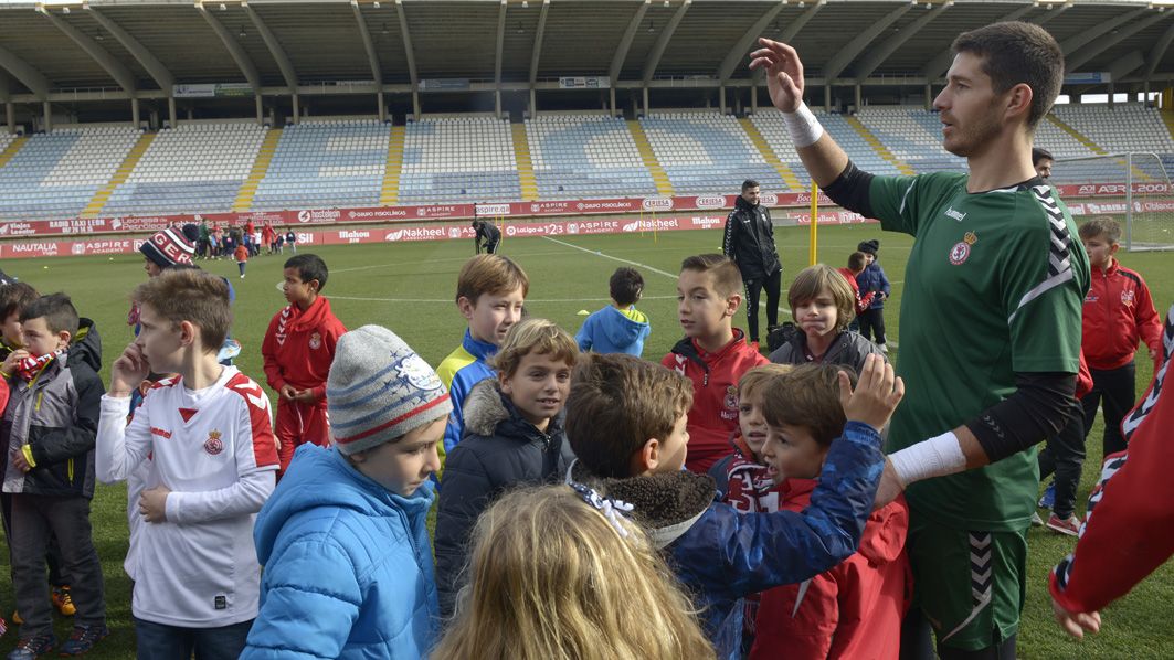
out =
{"type": "Polygon", "coordinates": [[[714,479],[683,471],[693,386],[630,355],[587,355],[572,376],[569,478],[634,506],[632,516],[669,554],[694,593],[720,659],[738,658],[741,599],[810,579],[856,552],[884,469],[879,430],[904,395],[900,379],[869,355],[856,390],[839,374],[848,423],[831,443],[803,512],[742,513],[715,502],[714,479]]]}

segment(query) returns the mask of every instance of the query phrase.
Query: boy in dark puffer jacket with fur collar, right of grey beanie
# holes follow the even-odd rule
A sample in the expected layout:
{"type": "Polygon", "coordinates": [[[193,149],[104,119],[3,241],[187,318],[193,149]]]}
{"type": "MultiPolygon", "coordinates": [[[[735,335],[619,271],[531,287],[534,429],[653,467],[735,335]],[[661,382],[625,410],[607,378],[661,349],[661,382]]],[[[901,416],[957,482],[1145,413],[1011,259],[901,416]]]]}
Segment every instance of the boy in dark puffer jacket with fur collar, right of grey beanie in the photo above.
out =
{"type": "Polygon", "coordinates": [[[481,511],[520,484],[560,481],[574,460],[562,431],[562,407],[579,346],[545,319],[506,334],[493,358],[497,380],[477,383],[465,400],[465,431],[448,454],[437,511],[440,614],[450,618],[468,556],[468,533],[481,511]]]}

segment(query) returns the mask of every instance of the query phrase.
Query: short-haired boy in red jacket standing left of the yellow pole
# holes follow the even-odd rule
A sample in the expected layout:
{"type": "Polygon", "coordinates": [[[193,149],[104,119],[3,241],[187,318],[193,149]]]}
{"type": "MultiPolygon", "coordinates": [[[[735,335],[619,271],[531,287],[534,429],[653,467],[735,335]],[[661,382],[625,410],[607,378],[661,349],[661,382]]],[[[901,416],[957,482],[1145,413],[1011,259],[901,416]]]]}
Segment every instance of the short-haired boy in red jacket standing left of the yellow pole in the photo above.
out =
{"type": "Polygon", "coordinates": [[[684,467],[700,475],[733,451],[729,437],[738,428],[738,379],[770,362],[733,326],[741,291],[742,273],[722,254],[699,254],[681,263],[676,294],[684,339],[661,365],[693,381],[684,467]]]}

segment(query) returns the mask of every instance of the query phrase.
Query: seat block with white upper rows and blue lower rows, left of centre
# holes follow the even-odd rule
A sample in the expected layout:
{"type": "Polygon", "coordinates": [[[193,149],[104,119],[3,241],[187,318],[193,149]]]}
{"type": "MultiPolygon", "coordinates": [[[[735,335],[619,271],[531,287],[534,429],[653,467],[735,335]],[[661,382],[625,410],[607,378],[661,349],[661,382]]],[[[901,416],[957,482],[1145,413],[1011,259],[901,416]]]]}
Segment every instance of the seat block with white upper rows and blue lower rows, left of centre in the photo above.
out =
{"type": "Polygon", "coordinates": [[[507,121],[470,116],[409,122],[403,163],[403,204],[521,199],[507,121]]]}

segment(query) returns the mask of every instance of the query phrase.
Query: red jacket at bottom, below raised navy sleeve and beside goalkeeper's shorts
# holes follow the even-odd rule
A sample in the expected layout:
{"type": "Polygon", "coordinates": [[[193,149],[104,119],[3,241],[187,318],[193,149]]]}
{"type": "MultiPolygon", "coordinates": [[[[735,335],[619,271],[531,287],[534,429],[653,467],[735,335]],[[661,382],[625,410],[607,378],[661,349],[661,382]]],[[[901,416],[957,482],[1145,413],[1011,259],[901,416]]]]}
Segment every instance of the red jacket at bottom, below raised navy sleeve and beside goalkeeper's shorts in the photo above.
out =
{"type": "MultiPolygon", "coordinates": [[[[788,479],[783,510],[802,511],[815,479],[788,479]]],[[[762,593],[751,660],[761,658],[896,660],[900,620],[909,608],[913,577],[905,553],[909,505],[898,497],[873,511],[861,546],[835,569],[803,585],[762,593]]]]}

